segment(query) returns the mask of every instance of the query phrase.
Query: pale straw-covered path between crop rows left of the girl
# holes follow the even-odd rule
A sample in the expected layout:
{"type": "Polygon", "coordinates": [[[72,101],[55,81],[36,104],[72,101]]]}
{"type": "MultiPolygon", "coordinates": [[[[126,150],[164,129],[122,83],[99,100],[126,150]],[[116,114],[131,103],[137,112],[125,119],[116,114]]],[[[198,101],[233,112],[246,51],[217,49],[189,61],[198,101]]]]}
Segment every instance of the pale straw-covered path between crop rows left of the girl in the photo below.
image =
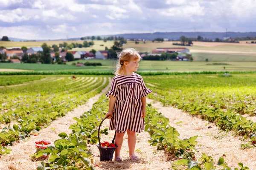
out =
{"type": "MultiPolygon", "coordinates": [[[[105,77],[102,85],[104,85],[106,81],[107,78],[105,77]]],[[[109,82],[111,82],[111,78],[109,78],[109,82]]],[[[79,108],[68,112],[64,117],[52,122],[49,127],[40,130],[38,136],[32,136],[29,139],[26,139],[26,142],[20,141],[20,143],[15,143],[10,147],[12,149],[11,153],[2,156],[0,159],[0,170],[35,170],[41,161],[31,161],[30,155],[35,153],[34,141],[45,139],[54,142],[56,139],[60,139],[58,136],[59,133],[71,133],[72,130],[69,130],[68,128],[71,124],[76,122],[73,117],[79,117],[84,112],[89,111],[93,103],[99,99],[99,96],[108,91],[109,88],[110,83],[102,90],[102,93],[90,98],[85,105],[81,105],[79,108]]]]}

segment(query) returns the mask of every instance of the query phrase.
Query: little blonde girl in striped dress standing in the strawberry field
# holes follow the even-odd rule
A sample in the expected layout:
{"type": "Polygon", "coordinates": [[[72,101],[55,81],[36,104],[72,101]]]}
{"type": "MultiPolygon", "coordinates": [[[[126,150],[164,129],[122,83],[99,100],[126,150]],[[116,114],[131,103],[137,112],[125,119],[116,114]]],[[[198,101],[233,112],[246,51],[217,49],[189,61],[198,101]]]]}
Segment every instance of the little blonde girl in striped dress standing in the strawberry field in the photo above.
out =
{"type": "Polygon", "coordinates": [[[146,95],[151,89],[145,86],[142,77],[134,73],[139,67],[140,54],[134,48],[126,48],[118,53],[115,77],[112,79],[108,113],[110,130],[115,130],[115,161],[122,161],[120,150],[125,132],[128,135],[129,156],[132,160],[139,159],[134,155],[136,132],[144,130],[146,115],[146,95]]]}

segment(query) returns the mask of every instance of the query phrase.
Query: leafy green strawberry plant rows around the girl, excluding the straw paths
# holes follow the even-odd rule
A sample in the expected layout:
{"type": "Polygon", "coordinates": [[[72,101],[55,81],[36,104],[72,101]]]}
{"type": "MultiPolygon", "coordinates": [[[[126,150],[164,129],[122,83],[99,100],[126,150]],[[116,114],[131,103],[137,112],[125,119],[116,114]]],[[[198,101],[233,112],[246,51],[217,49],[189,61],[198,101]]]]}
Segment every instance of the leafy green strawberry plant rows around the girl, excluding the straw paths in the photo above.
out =
{"type": "MultiPolygon", "coordinates": [[[[111,83],[112,76],[79,75],[76,79],[72,79],[70,75],[0,78],[5,85],[12,84],[13,79],[21,80],[17,83],[29,81],[19,86],[1,87],[0,125],[4,127],[0,132],[1,162],[1,156],[5,159],[16,152],[12,150],[15,147],[13,144],[40,137],[42,129],[101,93],[111,83]]],[[[143,79],[147,87],[154,92],[148,95],[149,98],[160,101],[163,105],[183,109],[188,114],[214,123],[226,132],[232,131],[239,136],[247,136],[251,140],[247,146],[256,147],[253,143],[256,123],[242,116],[255,114],[256,74],[159,75],[143,76],[143,79]]],[[[58,133],[59,139],[55,140],[54,146],[39,150],[38,153],[27,154],[27,159],[38,164],[38,168],[72,167],[95,170],[95,166],[99,165],[94,162],[99,157],[95,156],[95,153],[92,154],[92,147],[99,142],[98,127],[107,110],[108,98],[104,92],[94,102],[92,109],[80,117],[73,118],[75,122],[67,127],[69,134],[58,133]],[[42,161],[41,156],[49,156],[49,159],[42,161]]],[[[179,131],[169,124],[170,120],[151,104],[147,105],[146,112],[145,133],[149,133],[150,137],[146,139],[148,143],[143,145],[155,147],[154,153],[161,156],[171,156],[172,160],[169,161],[173,162],[172,167],[183,170],[189,168],[193,161],[198,170],[210,165],[218,169],[230,168],[228,161],[224,164],[223,157],[212,159],[212,156],[200,153],[198,141],[201,139],[198,139],[198,136],[182,139],[179,131]]],[[[100,136],[103,138],[108,134],[108,128],[102,128],[100,136]]],[[[23,144],[21,147],[27,146],[23,144]]],[[[226,153],[225,157],[233,156],[230,154],[226,153]]],[[[7,163],[13,159],[8,159],[7,163]]],[[[20,165],[20,168],[23,168],[22,166],[20,165]]],[[[241,163],[239,166],[244,167],[241,163]]]]}

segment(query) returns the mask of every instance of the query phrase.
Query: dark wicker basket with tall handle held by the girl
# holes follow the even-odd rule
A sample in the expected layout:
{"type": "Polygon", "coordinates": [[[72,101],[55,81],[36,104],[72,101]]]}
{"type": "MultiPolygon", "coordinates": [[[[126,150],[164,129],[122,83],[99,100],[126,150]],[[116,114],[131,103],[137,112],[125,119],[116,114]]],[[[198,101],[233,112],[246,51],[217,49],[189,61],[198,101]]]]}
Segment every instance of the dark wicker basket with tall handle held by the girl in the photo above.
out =
{"type": "MultiPolygon", "coordinates": [[[[107,119],[109,116],[105,117],[102,122],[107,119]]],[[[100,126],[102,125],[102,122],[99,124],[99,130],[98,130],[98,139],[99,139],[99,132],[100,132],[100,126]]],[[[114,143],[115,141],[115,138],[116,138],[116,132],[115,132],[115,135],[114,135],[114,138],[112,140],[112,143],[114,143]]],[[[99,139],[99,144],[96,145],[98,148],[99,148],[99,156],[100,156],[100,161],[112,161],[113,159],[113,154],[116,150],[116,147],[102,147],[101,144],[100,144],[100,139],[99,139]]]]}

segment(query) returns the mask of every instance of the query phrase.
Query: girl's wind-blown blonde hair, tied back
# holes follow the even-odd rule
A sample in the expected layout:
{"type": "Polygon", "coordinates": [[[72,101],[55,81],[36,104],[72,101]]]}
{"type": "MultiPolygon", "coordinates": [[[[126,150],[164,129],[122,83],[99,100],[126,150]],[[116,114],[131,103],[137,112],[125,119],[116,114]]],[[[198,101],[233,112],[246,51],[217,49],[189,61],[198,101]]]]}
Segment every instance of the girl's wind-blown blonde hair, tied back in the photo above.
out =
{"type": "Polygon", "coordinates": [[[124,74],[124,62],[130,62],[132,57],[135,56],[135,60],[140,59],[139,51],[134,48],[125,48],[122,51],[116,52],[117,62],[116,62],[116,72],[115,75],[124,74]]]}

